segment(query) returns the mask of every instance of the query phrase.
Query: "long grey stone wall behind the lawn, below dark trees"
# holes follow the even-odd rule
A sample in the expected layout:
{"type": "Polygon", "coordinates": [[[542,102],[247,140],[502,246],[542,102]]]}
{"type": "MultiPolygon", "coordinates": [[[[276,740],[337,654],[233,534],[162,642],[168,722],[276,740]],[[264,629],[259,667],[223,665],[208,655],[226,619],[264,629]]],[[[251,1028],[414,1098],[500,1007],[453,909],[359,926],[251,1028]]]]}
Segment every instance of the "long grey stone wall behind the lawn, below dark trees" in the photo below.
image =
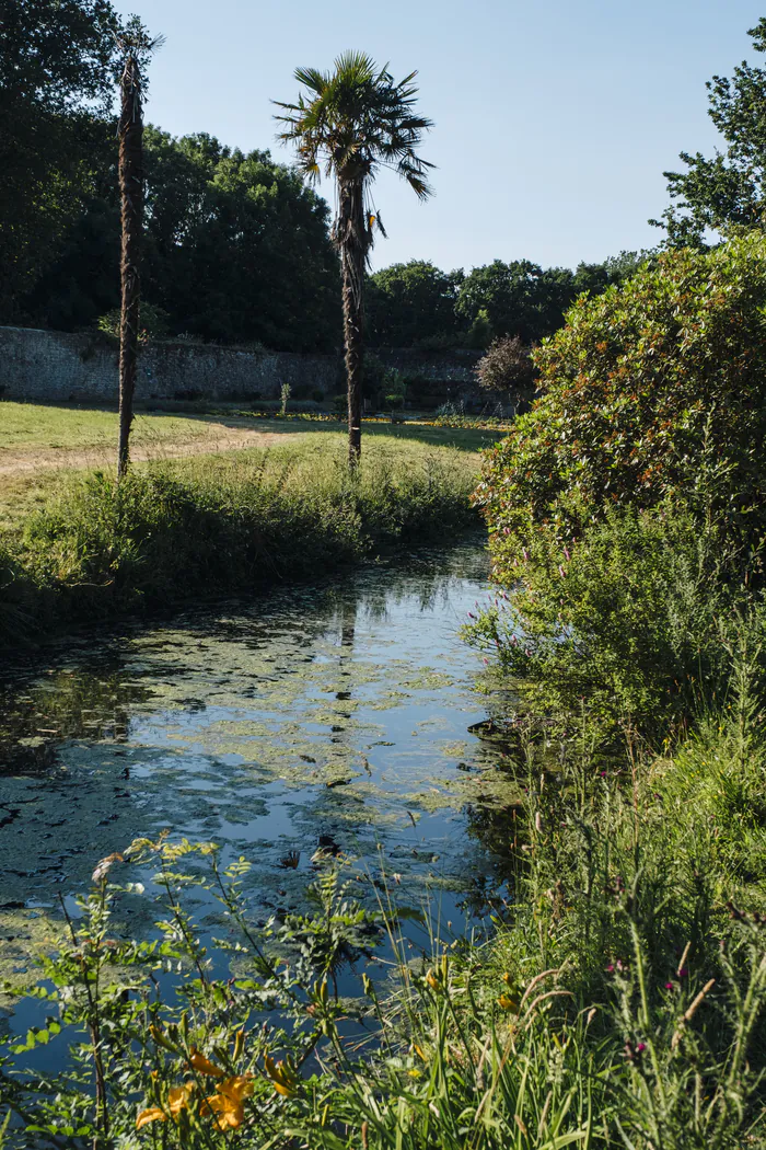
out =
{"type": "MultiPolygon", "coordinates": [[[[470,397],[477,352],[376,352],[412,381],[424,399],[470,397]]],[[[141,351],[136,398],[277,399],[283,383],[294,398],[342,390],[335,355],[235,351],[167,342],[141,351]]],[[[0,328],[0,396],[39,402],[117,401],[117,348],[100,335],[68,335],[36,328],[0,328]]]]}

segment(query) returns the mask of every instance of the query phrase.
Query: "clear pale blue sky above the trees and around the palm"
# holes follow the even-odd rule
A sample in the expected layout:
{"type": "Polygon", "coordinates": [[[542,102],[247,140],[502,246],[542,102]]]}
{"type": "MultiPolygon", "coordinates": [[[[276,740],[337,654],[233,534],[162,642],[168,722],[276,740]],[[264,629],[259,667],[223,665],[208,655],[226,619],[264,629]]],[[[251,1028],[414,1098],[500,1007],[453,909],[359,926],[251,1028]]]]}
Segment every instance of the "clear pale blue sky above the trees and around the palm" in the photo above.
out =
{"type": "MultiPolygon", "coordinates": [[[[394,176],[376,200],[389,233],[374,266],[493,259],[573,267],[652,246],[663,170],[681,150],[712,153],[705,80],[753,59],[751,0],[118,0],[167,43],[147,117],[245,150],[274,144],[272,99],[297,94],[297,66],[346,48],[419,71],[435,121],[424,155],[436,195],[418,204],[394,176]]],[[[764,61],[766,64],[766,61],[764,61]]],[[[331,198],[331,187],[320,189],[331,198]]]]}

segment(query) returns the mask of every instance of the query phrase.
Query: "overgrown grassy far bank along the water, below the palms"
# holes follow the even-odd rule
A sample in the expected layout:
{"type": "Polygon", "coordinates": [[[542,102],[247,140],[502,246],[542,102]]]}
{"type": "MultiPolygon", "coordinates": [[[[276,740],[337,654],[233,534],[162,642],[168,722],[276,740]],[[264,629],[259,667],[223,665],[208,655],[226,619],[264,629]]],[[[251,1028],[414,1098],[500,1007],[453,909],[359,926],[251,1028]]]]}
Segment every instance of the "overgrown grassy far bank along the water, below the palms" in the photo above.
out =
{"type": "MultiPolygon", "coordinates": [[[[433,429],[430,429],[433,430],[433,429]]],[[[475,523],[475,455],[367,437],[358,477],[340,434],[105,473],[54,471],[6,520],[0,635],[338,570],[475,523]]]]}

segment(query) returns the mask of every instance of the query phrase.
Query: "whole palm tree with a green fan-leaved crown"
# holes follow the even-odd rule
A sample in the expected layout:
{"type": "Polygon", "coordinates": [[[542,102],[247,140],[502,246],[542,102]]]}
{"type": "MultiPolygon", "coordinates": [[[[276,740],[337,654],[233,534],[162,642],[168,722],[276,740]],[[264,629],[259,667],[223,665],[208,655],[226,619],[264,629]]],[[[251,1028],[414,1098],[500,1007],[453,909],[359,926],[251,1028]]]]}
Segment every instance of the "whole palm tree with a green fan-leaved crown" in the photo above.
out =
{"type": "Polygon", "coordinates": [[[371,185],[380,168],[392,168],[418,199],[432,194],[427,169],[417,148],[431,121],[413,110],[417,87],[410,72],[399,84],[388,66],[361,52],[346,52],[330,72],[299,68],[303,85],[297,103],[279,103],[285,124],[279,139],[294,143],[299,169],[311,181],[334,177],[338,200],[332,238],[341,260],[343,340],[348,384],[348,458],[356,467],[362,453],[362,370],[364,276],[373,228],[386,232],[372,204],[371,185]]]}

